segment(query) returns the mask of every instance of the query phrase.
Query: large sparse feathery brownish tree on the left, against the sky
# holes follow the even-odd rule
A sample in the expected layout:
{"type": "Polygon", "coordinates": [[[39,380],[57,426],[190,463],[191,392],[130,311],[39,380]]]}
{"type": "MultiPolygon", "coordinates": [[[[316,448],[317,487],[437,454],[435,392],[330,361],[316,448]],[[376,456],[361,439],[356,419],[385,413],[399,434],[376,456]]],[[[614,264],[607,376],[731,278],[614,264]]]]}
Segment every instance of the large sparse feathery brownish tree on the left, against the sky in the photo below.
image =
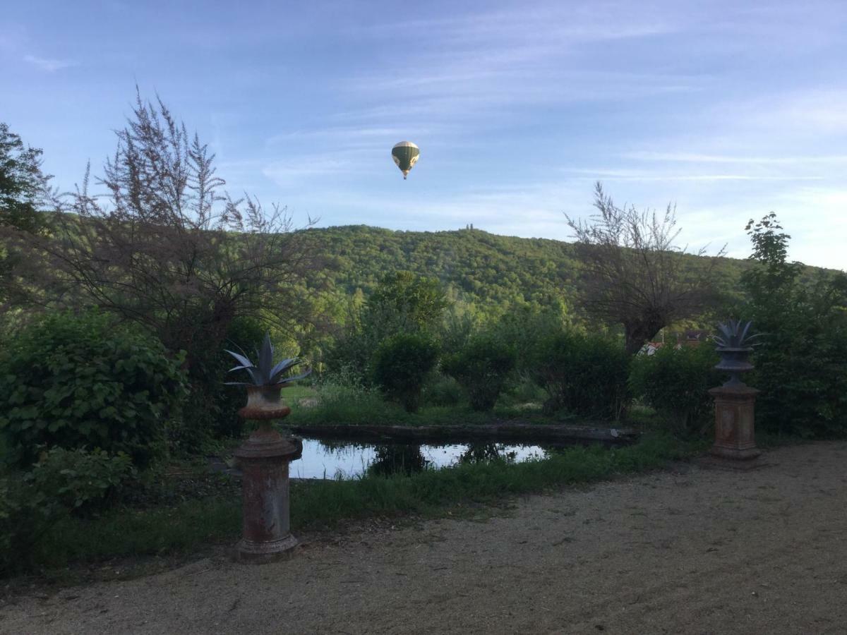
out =
{"type": "Polygon", "coordinates": [[[161,100],[136,96],[116,134],[97,179],[105,193],[90,193],[86,170],[82,185],[56,201],[51,235],[37,244],[50,279],[42,301],[61,291],[142,323],[171,350],[187,351],[189,366],[220,348],[235,317],[280,325],[308,317],[298,283],[314,253],[285,208],[266,213],[249,196],[231,198],[208,146],[161,100]]]}

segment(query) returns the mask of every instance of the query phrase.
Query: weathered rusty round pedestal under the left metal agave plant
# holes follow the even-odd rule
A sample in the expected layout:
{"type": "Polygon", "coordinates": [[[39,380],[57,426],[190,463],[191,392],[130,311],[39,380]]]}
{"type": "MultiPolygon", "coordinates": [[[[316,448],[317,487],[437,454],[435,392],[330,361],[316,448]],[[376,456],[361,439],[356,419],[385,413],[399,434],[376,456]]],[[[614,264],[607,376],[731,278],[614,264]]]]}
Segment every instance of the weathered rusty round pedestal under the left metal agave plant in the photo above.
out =
{"type": "Polygon", "coordinates": [[[267,422],[235,450],[244,491],[244,532],[235,546],[238,560],[278,560],[296,547],[289,522],[288,464],[299,459],[302,450],[300,439],[284,439],[267,422]]]}

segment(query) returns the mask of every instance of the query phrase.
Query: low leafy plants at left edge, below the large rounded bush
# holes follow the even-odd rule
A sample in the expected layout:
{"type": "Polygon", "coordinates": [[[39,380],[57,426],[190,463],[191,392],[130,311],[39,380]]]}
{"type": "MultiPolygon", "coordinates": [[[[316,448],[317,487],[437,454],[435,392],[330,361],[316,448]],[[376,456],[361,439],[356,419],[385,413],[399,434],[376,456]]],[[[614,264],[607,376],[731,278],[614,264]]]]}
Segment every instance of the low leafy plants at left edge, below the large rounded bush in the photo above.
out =
{"type": "Polygon", "coordinates": [[[125,454],[53,448],[30,472],[0,478],[0,572],[24,566],[56,522],[104,509],[132,474],[125,454]]]}

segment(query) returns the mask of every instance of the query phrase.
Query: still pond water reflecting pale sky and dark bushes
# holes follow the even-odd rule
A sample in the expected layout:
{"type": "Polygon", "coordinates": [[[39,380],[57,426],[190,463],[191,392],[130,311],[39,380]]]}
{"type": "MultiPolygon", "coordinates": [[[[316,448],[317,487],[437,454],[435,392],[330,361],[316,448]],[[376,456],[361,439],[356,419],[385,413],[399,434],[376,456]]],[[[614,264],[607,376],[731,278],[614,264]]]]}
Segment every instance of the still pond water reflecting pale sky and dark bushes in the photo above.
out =
{"type": "Polygon", "coordinates": [[[539,445],[501,443],[417,445],[351,444],[303,439],[303,456],[289,467],[291,478],[356,478],[366,472],[412,473],[461,462],[543,459],[549,449],[539,445]]]}

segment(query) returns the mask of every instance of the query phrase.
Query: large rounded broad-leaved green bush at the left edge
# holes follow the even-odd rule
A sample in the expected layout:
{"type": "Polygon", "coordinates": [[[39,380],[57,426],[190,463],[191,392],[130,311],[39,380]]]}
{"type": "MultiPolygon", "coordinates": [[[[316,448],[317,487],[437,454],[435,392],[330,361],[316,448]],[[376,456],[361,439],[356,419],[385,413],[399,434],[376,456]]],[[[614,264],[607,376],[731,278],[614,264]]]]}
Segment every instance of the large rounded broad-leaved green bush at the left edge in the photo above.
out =
{"type": "Polygon", "coordinates": [[[180,358],[107,316],[47,316],[0,356],[0,432],[22,467],[47,446],[125,452],[144,466],[185,396],[180,358]]]}

